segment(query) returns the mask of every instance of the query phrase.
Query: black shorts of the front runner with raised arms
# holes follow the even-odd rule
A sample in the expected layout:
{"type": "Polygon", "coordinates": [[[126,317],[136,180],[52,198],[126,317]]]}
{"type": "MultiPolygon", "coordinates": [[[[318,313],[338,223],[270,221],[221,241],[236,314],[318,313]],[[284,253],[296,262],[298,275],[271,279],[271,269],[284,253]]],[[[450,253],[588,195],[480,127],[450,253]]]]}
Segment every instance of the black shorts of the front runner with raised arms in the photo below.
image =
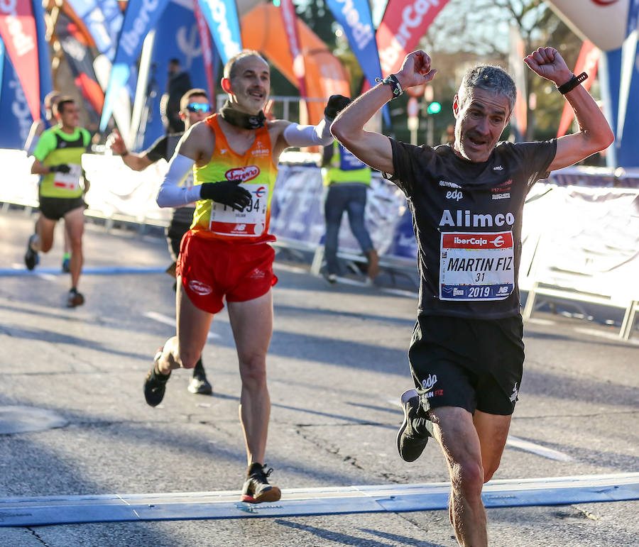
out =
{"type": "Polygon", "coordinates": [[[423,407],[513,414],[523,372],[522,338],[521,316],[419,316],[408,360],[423,407]]]}

